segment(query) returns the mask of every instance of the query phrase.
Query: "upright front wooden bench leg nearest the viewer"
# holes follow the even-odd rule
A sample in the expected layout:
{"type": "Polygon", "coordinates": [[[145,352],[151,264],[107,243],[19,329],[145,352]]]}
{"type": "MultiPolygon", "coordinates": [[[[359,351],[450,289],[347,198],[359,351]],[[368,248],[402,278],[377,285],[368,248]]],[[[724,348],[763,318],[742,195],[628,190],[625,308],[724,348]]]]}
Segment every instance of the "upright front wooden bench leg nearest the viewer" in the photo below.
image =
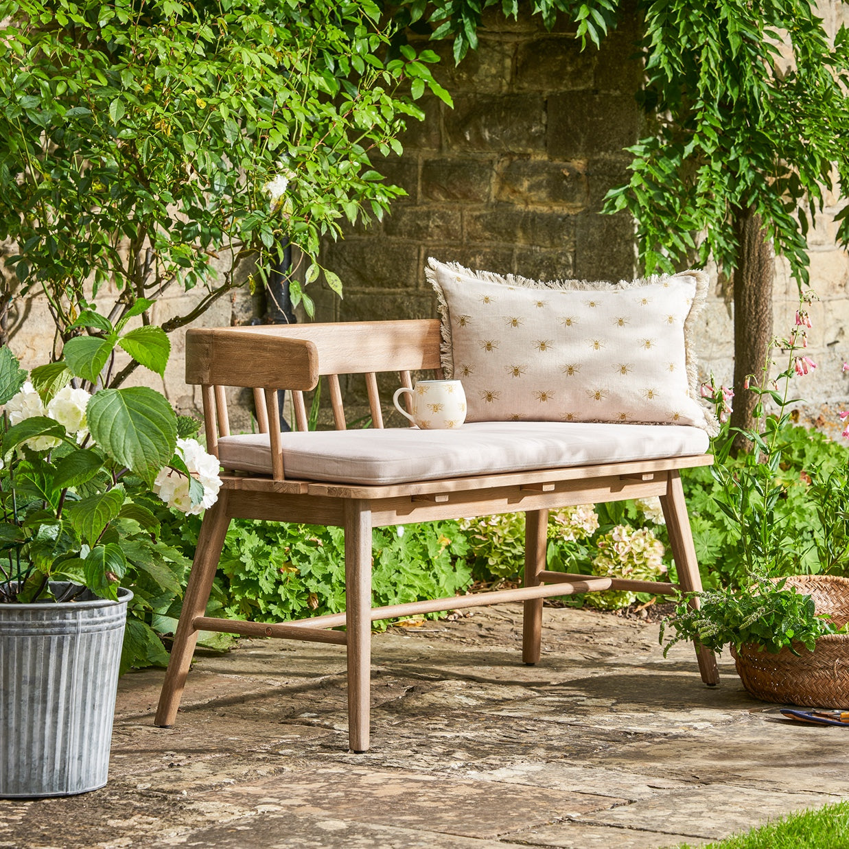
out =
{"type": "Polygon", "coordinates": [[[345,595],[348,651],[348,740],[368,751],[371,689],[371,509],[365,501],[345,503],[345,595]]]}

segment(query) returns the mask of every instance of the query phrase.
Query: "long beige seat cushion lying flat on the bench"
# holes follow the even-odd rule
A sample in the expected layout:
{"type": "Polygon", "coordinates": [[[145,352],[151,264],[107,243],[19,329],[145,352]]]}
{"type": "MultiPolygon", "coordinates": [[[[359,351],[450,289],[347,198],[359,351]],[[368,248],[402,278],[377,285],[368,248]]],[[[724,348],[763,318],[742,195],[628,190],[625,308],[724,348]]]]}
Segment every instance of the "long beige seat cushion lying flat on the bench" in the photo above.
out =
{"type": "MultiPolygon", "coordinates": [[[[322,430],[284,433],[287,478],[382,485],[526,469],[703,454],[704,430],[678,424],[474,422],[459,430],[322,430]]],[[[271,474],[268,436],[224,436],[228,469],[271,474]]]]}

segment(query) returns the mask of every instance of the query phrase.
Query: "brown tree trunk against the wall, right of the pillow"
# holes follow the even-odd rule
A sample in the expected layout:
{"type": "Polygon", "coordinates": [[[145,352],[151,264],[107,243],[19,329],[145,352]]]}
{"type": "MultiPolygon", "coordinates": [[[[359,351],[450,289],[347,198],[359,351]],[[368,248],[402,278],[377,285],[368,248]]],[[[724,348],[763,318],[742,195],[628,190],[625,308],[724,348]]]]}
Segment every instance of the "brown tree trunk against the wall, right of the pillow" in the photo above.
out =
{"type": "MultiPolygon", "coordinates": [[[[734,412],[731,426],[751,428],[758,402],[743,382],[752,374],[760,382],[773,340],[773,247],[761,216],[750,208],[734,207],[734,233],[739,252],[734,269],[734,412]]],[[[734,438],[734,449],[749,447],[745,437],[734,438]]]]}

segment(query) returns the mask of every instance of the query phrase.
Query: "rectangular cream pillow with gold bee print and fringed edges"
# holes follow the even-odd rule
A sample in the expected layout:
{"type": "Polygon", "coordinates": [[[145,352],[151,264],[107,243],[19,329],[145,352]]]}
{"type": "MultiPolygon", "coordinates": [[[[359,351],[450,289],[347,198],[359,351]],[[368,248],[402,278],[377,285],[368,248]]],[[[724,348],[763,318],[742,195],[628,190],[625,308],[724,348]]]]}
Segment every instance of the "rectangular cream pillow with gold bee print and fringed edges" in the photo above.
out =
{"type": "Polygon", "coordinates": [[[702,271],[588,283],[473,272],[430,259],[442,368],[467,421],[691,424],[717,430],[689,340],[702,271]]]}

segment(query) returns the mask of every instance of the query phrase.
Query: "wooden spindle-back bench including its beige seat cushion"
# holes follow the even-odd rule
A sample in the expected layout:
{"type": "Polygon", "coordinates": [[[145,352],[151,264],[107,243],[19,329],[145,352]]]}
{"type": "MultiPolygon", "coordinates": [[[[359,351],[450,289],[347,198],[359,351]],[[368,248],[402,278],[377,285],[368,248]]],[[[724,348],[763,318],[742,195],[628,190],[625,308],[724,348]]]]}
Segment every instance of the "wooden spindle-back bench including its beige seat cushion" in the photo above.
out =
{"type": "MultiPolygon", "coordinates": [[[[676,589],[671,583],[547,571],[549,509],[659,496],[680,587],[700,589],[678,471],[711,463],[700,430],[522,422],[464,424],[457,431],[381,430],[377,374],[399,373],[400,385],[409,387],[412,372],[441,377],[436,320],[193,329],[186,346],[187,381],[201,386],[207,448],[222,459],[225,471],[218,501],[206,511],[201,527],[155,717],[159,726],[170,726],[177,717],[200,631],[345,645],[350,746],[363,752],[368,750],[372,621],[522,601],[522,659],[534,664],[540,658],[543,599],[607,589],[658,594],[676,589]],[[375,430],[346,431],[340,374],[364,375],[375,430]],[[307,432],[303,393],[320,376],[329,385],[337,430],[307,432]],[[225,386],[253,389],[260,435],[231,436],[225,386]],[[292,393],[296,433],[280,432],[281,390],[292,393]],[[459,436],[464,443],[456,442],[459,436]],[[498,468],[501,458],[512,457],[523,440],[527,450],[511,459],[513,466],[493,472],[492,465],[498,468]],[[394,464],[389,463],[390,446],[394,464]],[[413,458],[421,473],[403,480],[403,470],[415,465],[413,458]],[[391,480],[385,482],[383,469],[390,466],[391,480]],[[300,471],[295,474],[292,468],[300,471]],[[446,475],[446,468],[455,473],[446,475]],[[368,482],[352,480],[353,475],[366,475],[368,482]],[[526,513],[524,587],[372,608],[373,527],[516,511],[526,513]],[[224,537],[230,520],[239,517],[343,527],[346,612],[273,625],[206,616],[224,537]],[[340,626],[346,630],[331,630],[340,626]]],[[[717,683],[714,656],[696,649],[702,680],[717,683]]]]}

